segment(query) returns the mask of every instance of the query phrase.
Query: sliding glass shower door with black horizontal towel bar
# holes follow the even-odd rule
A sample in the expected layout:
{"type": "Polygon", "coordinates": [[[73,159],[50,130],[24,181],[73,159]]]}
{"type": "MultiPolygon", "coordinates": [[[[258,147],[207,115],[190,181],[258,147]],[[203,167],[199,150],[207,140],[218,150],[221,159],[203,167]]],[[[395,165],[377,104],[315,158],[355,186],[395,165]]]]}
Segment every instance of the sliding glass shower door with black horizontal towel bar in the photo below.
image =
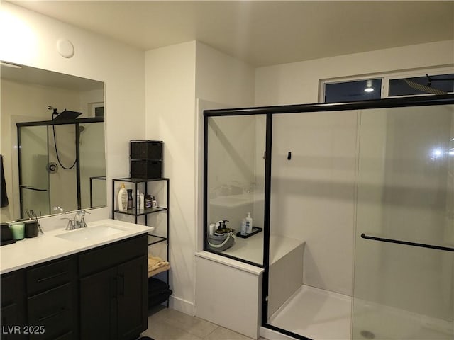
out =
{"type": "Polygon", "coordinates": [[[454,339],[454,108],[360,118],[353,339],[454,339]]]}

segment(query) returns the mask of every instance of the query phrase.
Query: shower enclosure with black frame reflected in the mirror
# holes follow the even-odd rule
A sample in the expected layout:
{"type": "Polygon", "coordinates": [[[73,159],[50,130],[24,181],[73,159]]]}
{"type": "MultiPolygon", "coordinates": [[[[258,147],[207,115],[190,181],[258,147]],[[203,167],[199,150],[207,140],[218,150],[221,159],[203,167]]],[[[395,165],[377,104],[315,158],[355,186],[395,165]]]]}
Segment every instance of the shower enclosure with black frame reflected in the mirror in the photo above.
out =
{"type": "Polygon", "coordinates": [[[104,117],[16,125],[21,218],[106,205],[104,117]]]}

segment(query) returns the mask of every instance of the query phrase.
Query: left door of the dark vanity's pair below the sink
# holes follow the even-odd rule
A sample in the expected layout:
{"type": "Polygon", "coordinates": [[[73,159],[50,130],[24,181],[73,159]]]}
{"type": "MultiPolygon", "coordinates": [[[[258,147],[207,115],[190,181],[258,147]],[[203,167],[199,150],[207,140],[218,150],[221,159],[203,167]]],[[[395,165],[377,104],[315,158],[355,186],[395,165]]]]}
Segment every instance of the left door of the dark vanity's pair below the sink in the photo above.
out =
{"type": "Polygon", "coordinates": [[[81,278],[80,339],[116,339],[116,268],[81,278]]]}

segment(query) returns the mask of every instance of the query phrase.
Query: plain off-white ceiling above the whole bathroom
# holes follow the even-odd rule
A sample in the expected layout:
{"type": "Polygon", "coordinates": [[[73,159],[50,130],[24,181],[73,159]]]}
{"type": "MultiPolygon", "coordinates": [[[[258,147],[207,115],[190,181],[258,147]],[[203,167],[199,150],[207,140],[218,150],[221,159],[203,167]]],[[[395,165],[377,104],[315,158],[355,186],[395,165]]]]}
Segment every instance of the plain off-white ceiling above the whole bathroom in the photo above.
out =
{"type": "Polygon", "coordinates": [[[255,67],[454,39],[454,1],[9,2],[141,50],[199,40],[255,67]]]}

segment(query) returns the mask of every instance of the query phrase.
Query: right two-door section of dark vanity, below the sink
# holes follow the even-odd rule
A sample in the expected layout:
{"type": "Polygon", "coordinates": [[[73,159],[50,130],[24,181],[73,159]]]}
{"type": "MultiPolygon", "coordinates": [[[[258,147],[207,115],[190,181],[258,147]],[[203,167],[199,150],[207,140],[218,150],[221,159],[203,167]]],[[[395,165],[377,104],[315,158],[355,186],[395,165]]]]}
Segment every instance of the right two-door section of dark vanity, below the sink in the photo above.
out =
{"type": "Polygon", "coordinates": [[[79,256],[80,338],[136,339],[147,329],[147,235],[79,256]]]}

